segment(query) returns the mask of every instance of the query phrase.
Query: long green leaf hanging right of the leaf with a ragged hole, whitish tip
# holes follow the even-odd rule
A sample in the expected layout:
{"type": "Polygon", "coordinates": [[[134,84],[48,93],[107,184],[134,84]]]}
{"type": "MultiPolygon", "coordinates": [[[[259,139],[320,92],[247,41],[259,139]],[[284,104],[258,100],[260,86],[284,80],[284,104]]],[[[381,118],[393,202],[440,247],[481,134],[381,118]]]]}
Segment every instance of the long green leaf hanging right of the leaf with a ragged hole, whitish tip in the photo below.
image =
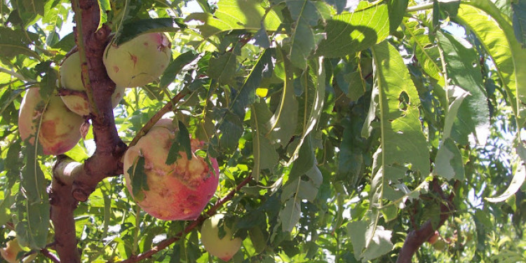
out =
{"type": "Polygon", "coordinates": [[[460,43],[450,34],[437,32],[437,36],[447,65],[445,71],[451,79],[450,85],[459,86],[470,93],[460,106],[451,135],[459,144],[468,144],[468,135],[474,134],[476,142],[484,145],[489,136],[490,109],[482,91],[478,53],[464,46],[468,43],[460,43]]]}

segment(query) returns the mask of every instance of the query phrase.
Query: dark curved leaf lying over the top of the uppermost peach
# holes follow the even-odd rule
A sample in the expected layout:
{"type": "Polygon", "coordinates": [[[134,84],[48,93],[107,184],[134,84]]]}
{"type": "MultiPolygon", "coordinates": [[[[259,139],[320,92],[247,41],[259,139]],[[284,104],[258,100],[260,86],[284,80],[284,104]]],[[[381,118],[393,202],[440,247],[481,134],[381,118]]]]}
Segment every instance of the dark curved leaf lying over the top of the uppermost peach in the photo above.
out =
{"type": "Polygon", "coordinates": [[[121,32],[115,38],[117,46],[134,39],[136,36],[152,32],[178,32],[186,28],[180,18],[149,18],[134,20],[123,25],[121,32]]]}

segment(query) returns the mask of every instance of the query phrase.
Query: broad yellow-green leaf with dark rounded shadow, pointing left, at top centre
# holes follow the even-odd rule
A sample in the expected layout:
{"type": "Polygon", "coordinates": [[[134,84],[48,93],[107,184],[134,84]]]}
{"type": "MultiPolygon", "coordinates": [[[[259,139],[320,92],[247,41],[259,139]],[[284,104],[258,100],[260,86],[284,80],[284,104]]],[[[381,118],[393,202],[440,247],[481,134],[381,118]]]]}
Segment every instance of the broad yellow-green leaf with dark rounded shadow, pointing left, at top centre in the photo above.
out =
{"type": "Polygon", "coordinates": [[[364,50],[389,36],[389,8],[384,1],[353,13],[342,13],[327,20],[326,38],[317,54],[340,58],[364,50]]]}

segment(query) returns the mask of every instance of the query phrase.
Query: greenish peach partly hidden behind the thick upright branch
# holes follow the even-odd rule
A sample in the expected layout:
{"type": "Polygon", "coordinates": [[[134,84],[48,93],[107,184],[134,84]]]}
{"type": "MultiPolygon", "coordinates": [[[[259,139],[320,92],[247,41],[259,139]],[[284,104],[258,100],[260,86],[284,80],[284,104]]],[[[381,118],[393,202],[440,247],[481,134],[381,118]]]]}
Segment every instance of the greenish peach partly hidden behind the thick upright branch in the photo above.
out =
{"type": "MultiPolygon", "coordinates": [[[[78,52],[69,55],[68,58],[62,62],[60,66],[60,85],[62,88],[67,88],[68,90],[86,90],[82,83],[81,76],[81,58],[78,52]]],[[[116,107],[117,104],[124,97],[124,86],[116,86],[115,91],[112,95],[112,106],[116,107]]],[[[66,106],[72,110],[72,112],[79,115],[88,115],[90,114],[90,108],[88,106],[88,100],[85,97],[79,95],[65,95],[61,96],[62,101],[66,106]]]]}

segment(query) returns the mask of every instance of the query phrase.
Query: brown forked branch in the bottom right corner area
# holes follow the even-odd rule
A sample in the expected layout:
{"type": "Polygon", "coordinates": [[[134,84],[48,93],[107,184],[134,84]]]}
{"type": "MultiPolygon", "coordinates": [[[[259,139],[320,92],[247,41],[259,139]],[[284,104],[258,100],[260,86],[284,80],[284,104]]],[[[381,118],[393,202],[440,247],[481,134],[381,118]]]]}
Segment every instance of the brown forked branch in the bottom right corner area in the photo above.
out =
{"type": "MultiPolygon", "coordinates": [[[[445,223],[445,220],[450,217],[452,211],[454,211],[454,205],[452,201],[454,198],[454,193],[457,191],[458,185],[459,181],[455,182],[450,196],[446,196],[442,191],[442,188],[440,188],[438,179],[433,179],[433,191],[438,193],[438,195],[443,199],[443,202],[440,203],[440,220],[438,221],[436,229],[439,229],[445,223]]],[[[410,263],[414,253],[417,252],[424,242],[433,236],[436,229],[433,228],[431,220],[427,220],[424,224],[422,224],[422,226],[420,226],[419,229],[410,231],[405,238],[402,248],[400,249],[396,263],[410,263]]]]}

